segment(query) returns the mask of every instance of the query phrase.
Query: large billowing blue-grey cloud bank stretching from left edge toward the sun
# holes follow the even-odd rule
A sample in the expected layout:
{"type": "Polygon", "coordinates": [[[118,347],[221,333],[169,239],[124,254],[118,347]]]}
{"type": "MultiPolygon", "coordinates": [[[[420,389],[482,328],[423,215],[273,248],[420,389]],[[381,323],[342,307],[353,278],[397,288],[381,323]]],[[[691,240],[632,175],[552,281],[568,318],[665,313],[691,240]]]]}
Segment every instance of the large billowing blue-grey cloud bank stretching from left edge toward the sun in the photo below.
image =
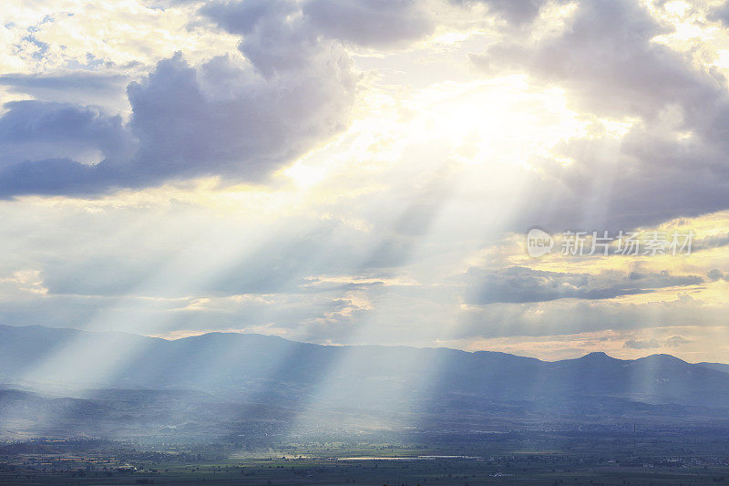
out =
{"type": "Polygon", "coordinates": [[[159,61],[128,86],[132,116],[124,126],[90,107],[6,105],[0,140],[28,147],[5,151],[0,196],[95,193],[201,175],[262,181],[332,137],[348,124],[358,75],[342,47],[289,35],[284,14],[261,14],[278,38],[241,44],[252,65],[221,56],[196,68],[180,53],[159,61]],[[128,140],[139,143],[133,156],[128,140]],[[53,150],[66,142],[97,149],[103,160],[88,166],[78,153],[53,150]]]}

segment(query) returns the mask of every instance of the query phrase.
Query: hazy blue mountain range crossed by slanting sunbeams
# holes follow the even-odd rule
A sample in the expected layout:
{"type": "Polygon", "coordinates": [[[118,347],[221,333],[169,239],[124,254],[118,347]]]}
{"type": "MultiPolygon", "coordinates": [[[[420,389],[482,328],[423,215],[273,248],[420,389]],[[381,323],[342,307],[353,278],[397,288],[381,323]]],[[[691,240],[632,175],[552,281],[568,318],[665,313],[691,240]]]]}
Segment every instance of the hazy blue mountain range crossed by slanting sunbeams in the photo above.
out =
{"type": "MultiPolygon", "coordinates": [[[[726,369],[669,355],[622,360],[590,353],[546,362],[488,351],[319,346],[235,333],[165,340],[0,326],[0,382],[36,392],[0,390],[0,417],[11,408],[38,409],[194,433],[203,433],[200,424],[223,433],[229,428],[223,424],[251,419],[330,419],[353,429],[726,420],[726,369]],[[57,401],[67,396],[76,401],[57,401]]],[[[32,413],[13,413],[32,421],[32,413]]]]}

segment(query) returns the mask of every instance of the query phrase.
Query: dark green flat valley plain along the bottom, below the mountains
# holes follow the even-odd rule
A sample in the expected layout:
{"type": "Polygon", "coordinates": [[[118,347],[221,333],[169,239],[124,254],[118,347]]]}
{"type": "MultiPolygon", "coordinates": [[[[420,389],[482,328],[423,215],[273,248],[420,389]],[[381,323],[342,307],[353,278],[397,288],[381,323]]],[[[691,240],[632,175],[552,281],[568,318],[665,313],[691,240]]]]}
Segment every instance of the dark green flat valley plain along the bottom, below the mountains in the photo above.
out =
{"type": "Polygon", "coordinates": [[[258,451],[215,445],[137,450],[118,444],[36,442],[36,450],[0,457],[0,483],[659,485],[729,479],[729,454],[719,437],[712,450],[701,450],[686,438],[675,443],[580,437],[548,449],[543,441],[519,437],[436,448],[312,443],[258,451]],[[49,453],[46,448],[51,446],[58,452],[49,453]],[[646,450],[661,452],[648,455],[646,450]],[[681,455],[674,455],[680,450],[681,455]],[[453,454],[459,457],[442,457],[453,454]]]}

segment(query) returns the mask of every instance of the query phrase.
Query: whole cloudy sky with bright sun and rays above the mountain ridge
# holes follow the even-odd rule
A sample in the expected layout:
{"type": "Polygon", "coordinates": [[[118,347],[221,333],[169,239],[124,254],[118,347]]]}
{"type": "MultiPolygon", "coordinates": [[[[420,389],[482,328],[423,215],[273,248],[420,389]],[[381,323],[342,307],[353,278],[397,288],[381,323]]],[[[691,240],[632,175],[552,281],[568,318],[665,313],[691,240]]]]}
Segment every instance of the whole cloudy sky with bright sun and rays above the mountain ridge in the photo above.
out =
{"type": "Polygon", "coordinates": [[[729,362],[729,4],[1,16],[1,324],[729,362]]]}

